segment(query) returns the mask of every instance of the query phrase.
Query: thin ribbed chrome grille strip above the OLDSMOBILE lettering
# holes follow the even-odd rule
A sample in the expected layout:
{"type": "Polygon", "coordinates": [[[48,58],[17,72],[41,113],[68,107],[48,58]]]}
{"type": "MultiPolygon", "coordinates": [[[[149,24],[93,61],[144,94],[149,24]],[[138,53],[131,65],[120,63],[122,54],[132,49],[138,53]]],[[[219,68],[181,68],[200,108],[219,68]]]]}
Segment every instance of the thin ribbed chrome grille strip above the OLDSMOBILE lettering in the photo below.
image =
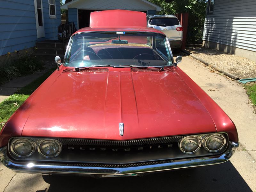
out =
{"type": "Polygon", "coordinates": [[[178,142],[184,136],[173,137],[159,137],[139,140],[126,140],[126,141],[114,141],[114,140],[88,140],[88,139],[57,139],[63,145],[91,145],[91,146],[136,146],[136,145],[148,145],[158,143],[172,143],[178,142]]]}

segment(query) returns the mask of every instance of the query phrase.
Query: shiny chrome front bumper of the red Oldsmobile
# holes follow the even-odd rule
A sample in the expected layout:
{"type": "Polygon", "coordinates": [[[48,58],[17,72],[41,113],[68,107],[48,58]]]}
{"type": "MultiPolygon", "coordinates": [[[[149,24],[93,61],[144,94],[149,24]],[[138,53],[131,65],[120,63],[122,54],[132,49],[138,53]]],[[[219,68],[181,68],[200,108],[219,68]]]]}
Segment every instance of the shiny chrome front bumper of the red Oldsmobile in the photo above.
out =
{"type": "Polygon", "coordinates": [[[42,173],[42,174],[97,174],[97,175],[126,175],[134,173],[156,172],[172,169],[181,169],[189,167],[197,167],[204,165],[220,164],[228,161],[234,154],[238,143],[230,142],[227,150],[222,155],[173,160],[171,163],[153,164],[137,167],[125,168],[107,168],[107,167],[83,167],[83,166],[68,166],[65,164],[46,164],[46,163],[22,163],[12,161],[7,156],[7,147],[0,148],[0,159],[2,163],[15,172],[26,173],[42,173]]]}

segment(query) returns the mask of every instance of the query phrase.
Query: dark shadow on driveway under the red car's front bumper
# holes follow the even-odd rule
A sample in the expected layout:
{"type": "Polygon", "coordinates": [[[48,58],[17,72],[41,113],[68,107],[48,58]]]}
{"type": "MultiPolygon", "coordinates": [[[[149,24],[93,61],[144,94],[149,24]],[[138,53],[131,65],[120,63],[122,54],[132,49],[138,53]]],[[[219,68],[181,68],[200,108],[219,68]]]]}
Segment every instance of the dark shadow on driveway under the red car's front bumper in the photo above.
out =
{"type": "Polygon", "coordinates": [[[51,176],[50,184],[48,192],[252,191],[229,161],[219,165],[154,173],[142,178],[120,177],[96,180],[78,176],[51,176]]]}

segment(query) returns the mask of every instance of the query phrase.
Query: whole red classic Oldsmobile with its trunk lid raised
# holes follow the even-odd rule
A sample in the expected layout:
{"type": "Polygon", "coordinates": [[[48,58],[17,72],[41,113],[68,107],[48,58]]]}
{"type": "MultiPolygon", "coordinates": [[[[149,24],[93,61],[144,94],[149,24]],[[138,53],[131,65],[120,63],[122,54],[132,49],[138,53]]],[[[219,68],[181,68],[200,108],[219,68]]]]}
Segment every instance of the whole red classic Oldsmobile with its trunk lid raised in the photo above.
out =
{"type": "Polygon", "coordinates": [[[142,12],[92,12],[63,63],[4,125],[0,159],[27,173],[141,176],[228,161],[225,112],[173,61],[142,12]]]}

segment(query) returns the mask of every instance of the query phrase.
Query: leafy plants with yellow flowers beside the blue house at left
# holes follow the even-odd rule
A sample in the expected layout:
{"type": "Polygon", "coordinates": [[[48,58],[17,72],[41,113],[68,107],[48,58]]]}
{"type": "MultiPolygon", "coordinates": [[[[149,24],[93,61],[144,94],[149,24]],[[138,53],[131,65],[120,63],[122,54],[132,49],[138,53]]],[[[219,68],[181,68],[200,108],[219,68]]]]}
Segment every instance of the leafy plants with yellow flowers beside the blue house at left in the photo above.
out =
{"type": "Polygon", "coordinates": [[[43,69],[42,61],[32,57],[27,51],[15,52],[18,55],[17,59],[13,57],[13,53],[8,52],[6,58],[0,63],[0,84],[43,69]]]}

